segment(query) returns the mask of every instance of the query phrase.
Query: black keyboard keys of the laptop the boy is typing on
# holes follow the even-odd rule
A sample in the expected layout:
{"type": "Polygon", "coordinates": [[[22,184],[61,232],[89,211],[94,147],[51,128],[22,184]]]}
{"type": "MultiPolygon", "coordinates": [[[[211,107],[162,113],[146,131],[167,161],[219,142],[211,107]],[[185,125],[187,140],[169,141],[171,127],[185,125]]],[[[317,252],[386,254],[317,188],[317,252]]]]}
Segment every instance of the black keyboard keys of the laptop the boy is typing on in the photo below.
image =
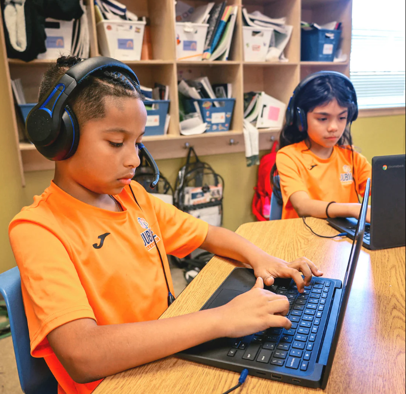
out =
{"type": "Polygon", "coordinates": [[[323,335],[320,327],[324,326],[324,317],[329,309],[331,282],[313,278],[302,294],[298,292],[293,280],[276,279],[275,283],[267,289],[288,298],[290,307],[286,317],[292,321],[291,329],[269,328],[254,335],[236,338],[227,355],[234,357],[237,350],[245,350],[242,358],[253,363],[306,371],[312,352],[316,352],[313,346],[316,342],[320,343],[319,339],[323,335]]]}

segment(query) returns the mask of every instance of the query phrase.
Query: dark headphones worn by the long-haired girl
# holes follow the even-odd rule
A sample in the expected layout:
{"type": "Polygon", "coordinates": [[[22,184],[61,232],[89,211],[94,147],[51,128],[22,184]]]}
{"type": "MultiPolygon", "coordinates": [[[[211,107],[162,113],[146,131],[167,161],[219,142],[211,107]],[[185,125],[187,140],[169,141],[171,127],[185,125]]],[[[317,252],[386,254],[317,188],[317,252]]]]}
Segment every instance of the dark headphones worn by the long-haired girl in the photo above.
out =
{"type": "Polygon", "coordinates": [[[289,100],[288,108],[286,109],[286,124],[288,126],[293,126],[296,124],[298,127],[299,131],[305,132],[307,131],[307,118],[306,118],[306,113],[305,111],[298,107],[296,104],[297,98],[302,91],[302,89],[310,82],[313,81],[314,79],[318,77],[323,77],[323,76],[334,76],[334,77],[339,77],[341,78],[346,86],[349,88],[349,90],[352,93],[352,105],[350,108],[350,116],[351,119],[349,119],[349,123],[353,123],[356,118],[358,117],[358,105],[356,101],[356,93],[355,93],[355,88],[351,80],[345,76],[344,74],[338,73],[337,71],[319,71],[317,73],[313,73],[308,75],[306,78],[304,78],[299,85],[296,87],[294,90],[291,99],[289,100]]]}

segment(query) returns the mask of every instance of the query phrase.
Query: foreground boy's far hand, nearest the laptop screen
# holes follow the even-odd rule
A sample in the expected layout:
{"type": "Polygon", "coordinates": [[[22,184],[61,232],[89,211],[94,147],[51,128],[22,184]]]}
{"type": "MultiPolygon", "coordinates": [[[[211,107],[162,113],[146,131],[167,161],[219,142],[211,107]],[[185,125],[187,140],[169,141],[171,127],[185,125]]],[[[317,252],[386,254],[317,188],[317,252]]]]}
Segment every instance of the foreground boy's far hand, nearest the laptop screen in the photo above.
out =
{"type": "Polygon", "coordinates": [[[305,286],[310,284],[312,275],[323,275],[323,272],[319,271],[317,267],[305,257],[288,263],[276,257],[264,255],[264,258],[255,261],[251,266],[254,268],[255,276],[257,278],[261,277],[266,286],[273,285],[274,278],[293,278],[300,293],[303,293],[305,286]],[[303,273],[305,280],[303,280],[299,271],[303,273]]]}

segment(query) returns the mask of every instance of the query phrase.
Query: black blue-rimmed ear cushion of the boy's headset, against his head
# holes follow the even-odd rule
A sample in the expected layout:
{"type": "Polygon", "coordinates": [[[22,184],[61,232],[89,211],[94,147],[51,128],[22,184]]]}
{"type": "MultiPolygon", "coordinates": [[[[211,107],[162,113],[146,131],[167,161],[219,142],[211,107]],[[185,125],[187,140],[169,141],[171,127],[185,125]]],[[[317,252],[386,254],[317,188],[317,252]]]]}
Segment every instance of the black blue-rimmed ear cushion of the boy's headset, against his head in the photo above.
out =
{"type": "Polygon", "coordinates": [[[37,146],[37,150],[47,159],[66,160],[71,157],[79,144],[79,124],[72,109],[65,105],[58,136],[51,145],[37,146]]]}

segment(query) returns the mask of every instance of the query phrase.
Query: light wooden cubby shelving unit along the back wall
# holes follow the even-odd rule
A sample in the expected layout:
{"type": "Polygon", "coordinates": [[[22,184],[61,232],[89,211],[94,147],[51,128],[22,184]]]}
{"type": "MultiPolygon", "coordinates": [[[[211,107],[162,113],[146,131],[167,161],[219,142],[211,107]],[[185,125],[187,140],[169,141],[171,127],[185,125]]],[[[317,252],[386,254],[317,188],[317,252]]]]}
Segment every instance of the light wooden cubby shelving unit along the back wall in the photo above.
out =
{"type": "MultiPolygon", "coordinates": [[[[198,154],[224,154],[244,151],[243,138],[243,94],[250,90],[264,90],[279,100],[288,102],[299,81],[307,74],[319,70],[336,70],[349,75],[349,61],[301,62],[300,40],[301,20],[325,23],[332,20],[343,22],[341,47],[343,53],[350,56],[351,48],[351,12],[352,0],[227,0],[229,5],[238,5],[239,13],[228,61],[177,61],[175,54],[175,9],[173,0],[120,0],[129,10],[151,21],[152,60],[127,62],[137,74],[142,85],[153,86],[155,82],[169,85],[170,88],[170,124],[167,135],[145,136],[144,141],[155,159],[169,159],[186,155],[187,146],[195,146],[198,154]],[[287,17],[287,23],[294,26],[292,38],[285,55],[288,62],[245,62],[243,58],[241,8],[249,12],[259,10],[271,17],[287,17]],[[173,39],[172,39],[173,38],[173,39]],[[212,84],[231,83],[233,97],[236,98],[231,130],[210,132],[202,135],[183,136],[179,133],[179,102],[177,81],[179,78],[207,76],[212,84]]],[[[207,3],[203,0],[184,0],[192,6],[207,3]]],[[[220,0],[215,0],[216,2],[220,0]]],[[[98,56],[98,41],[92,0],[86,0],[90,29],[91,56],[98,56]]],[[[0,31],[1,44],[4,45],[3,31],[0,31]]],[[[38,88],[44,71],[53,60],[33,60],[23,62],[8,59],[10,77],[20,78],[27,102],[36,102],[38,88]]],[[[9,86],[11,99],[11,85],[9,86]]],[[[14,119],[16,134],[18,131],[16,115],[14,119]]],[[[260,149],[269,149],[278,136],[277,130],[261,130],[260,149]]],[[[19,142],[21,174],[24,184],[24,172],[49,170],[54,163],[43,158],[35,147],[27,142],[19,142]]]]}

